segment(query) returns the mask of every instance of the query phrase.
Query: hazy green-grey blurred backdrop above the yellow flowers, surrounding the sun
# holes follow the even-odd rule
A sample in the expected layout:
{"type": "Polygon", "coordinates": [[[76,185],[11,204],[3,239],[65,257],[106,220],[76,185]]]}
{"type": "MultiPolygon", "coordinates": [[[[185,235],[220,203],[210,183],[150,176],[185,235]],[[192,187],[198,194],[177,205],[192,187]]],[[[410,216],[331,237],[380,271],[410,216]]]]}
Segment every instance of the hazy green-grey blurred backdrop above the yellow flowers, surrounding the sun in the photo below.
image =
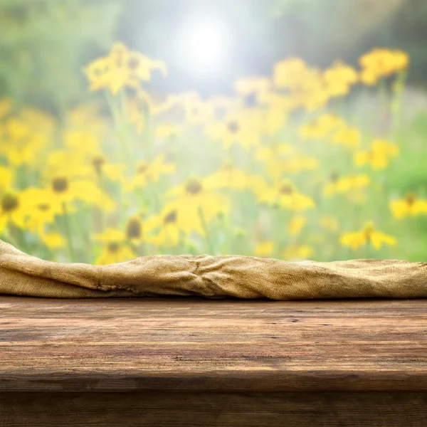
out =
{"type": "Polygon", "coordinates": [[[409,83],[425,84],[426,19],[425,0],[0,0],[0,95],[56,111],[84,101],[81,68],[115,40],[167,63],[168,82],[152,82],[162,91],[226,92],[287,56],[356,65],[375,46],[408,52],[409,83]],[[171,44],[198,12],[221,14],[235,38],[228,74],[209,83],[186,73],[171,44]]]}

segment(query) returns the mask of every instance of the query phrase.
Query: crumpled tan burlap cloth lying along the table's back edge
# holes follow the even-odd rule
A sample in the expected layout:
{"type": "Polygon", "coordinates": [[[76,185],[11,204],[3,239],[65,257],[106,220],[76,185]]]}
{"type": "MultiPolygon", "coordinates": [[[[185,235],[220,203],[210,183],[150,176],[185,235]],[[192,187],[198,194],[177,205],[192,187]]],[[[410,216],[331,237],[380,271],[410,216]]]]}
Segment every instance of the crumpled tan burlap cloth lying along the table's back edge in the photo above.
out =
{"type": "Polygon", "coordinates": [[[427,297],[427,263],[154,255],[110,265],[67,264],[41,260],[0,241],[0,294],[58,298],[415,298],[427,297]]]}

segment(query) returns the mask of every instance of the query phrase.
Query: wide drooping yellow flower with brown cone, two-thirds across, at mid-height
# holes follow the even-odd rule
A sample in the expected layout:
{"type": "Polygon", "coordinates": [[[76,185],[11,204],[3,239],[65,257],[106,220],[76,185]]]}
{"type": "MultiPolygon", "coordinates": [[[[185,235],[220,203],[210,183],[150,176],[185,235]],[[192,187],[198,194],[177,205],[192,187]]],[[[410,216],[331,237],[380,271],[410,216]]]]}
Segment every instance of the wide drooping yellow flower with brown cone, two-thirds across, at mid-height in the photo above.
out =
{"type": "Polygon", "coordinates": [[[272,188],[263,189],[258,194],[259,201],[273,206],[280,206],[290,211],[306,211],[315,206],[315,202],[309,196],[300,194],[295,186],[288,180],[281,182],[272,188]]]}

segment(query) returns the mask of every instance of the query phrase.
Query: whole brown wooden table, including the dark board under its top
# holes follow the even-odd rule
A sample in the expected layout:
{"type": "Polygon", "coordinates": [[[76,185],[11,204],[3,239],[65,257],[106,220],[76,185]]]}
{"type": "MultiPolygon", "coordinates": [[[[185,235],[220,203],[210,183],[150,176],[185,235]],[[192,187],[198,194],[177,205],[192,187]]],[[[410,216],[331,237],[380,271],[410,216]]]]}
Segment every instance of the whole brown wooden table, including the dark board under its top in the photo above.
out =
{"type": "Polygon", "coordinates": [[[427,300],[0,296],[0,426],[427,426],[427,300]]]}

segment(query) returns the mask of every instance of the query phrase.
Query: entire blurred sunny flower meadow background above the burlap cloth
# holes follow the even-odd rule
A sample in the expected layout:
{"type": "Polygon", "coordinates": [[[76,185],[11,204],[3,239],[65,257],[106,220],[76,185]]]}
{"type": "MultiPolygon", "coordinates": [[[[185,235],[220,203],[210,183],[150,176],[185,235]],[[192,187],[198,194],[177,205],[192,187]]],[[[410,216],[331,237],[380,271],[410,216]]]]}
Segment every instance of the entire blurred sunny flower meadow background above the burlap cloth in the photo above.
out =
{"type": "Polygon", "coordinates": [[[426,21],[423,0],[2,0],[0,238],[425,260],[426,21]]]}

